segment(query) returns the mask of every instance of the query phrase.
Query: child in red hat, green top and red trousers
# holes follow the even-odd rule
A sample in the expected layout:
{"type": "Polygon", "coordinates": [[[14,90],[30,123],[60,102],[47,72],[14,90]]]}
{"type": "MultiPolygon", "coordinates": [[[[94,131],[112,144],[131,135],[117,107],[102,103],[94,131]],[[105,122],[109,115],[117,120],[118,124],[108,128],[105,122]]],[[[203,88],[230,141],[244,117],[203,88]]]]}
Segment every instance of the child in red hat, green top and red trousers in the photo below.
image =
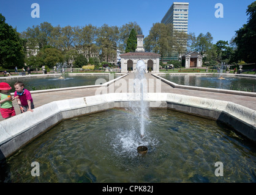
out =
{"type": "Polygon", "coordinates": [[[12,96],[10,95],[10,91],[12,87],[8,83],[2,82],[0,83],[0,112],[2,118],[7,119],[12,116],[15,116],[15,110],[12,105],[12,96]]]}

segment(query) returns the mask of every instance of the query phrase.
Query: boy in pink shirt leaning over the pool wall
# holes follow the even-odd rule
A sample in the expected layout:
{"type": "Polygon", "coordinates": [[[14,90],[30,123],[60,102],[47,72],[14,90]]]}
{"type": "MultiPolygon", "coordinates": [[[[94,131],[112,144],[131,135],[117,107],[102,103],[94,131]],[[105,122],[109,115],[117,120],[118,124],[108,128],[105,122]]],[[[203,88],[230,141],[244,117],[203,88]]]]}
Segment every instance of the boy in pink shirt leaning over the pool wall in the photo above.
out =
{"type": "Polygon", "coordinates": [[[14,83],[15,93],[14,98],[17,99],[18,105],[20,106],[21,113],[26,111],[33,112],[34,109],[33,99],[29,90],[24,88],[23,82],[14,83]]]}

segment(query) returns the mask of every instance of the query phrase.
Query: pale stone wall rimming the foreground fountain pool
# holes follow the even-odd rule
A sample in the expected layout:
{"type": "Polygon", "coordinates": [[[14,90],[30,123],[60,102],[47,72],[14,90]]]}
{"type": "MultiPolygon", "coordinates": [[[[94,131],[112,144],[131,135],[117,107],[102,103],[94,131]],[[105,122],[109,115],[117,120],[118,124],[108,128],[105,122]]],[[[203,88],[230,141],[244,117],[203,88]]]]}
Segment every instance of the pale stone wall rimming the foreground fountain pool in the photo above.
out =
{"type": "MultiPolygon", "coordinates": [[[[181,94],[148,93],[143,95],[150,108],[169,108],[225,122],[256,142],[256,111],[242,105],[181,94]]],[[[0,160],[34,140],[64,119],[111,108],[129,107],[140,101],[140,93],[108,93],[84,98],[54,101],[0,122],[0,160]]]]}

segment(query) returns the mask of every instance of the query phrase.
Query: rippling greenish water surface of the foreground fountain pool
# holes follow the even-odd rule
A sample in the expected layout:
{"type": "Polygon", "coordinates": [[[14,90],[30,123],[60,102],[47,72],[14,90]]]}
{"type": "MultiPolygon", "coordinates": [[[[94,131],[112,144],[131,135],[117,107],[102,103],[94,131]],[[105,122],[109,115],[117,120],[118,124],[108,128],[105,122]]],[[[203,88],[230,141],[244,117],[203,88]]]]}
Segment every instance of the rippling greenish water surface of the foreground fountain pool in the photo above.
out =
{"type": "Polygon", "coordinates": [[[150,110],[141,139],[135,117],[113,109],[63,121],[7,159],[4,182],[256,182],[255,145],[226,126],[150,110]],[[137,154],[140,145],[148,154],[137,154]]]}

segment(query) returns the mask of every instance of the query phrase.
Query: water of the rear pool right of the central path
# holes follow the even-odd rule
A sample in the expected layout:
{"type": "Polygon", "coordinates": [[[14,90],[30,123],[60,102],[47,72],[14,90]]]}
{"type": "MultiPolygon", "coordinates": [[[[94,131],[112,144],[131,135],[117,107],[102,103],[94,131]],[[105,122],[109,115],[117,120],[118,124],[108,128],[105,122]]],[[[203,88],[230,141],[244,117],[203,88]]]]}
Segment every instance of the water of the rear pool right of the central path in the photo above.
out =
{"type": "Polygon", "coordinates": [[[175,82],[179,85],[189,85],[195,87],[219,88],[225,90],[250,91],[256,90],[256,78],[249,77],[230,77],[224,76],[225,79],[218,79],[216,76],[200,75],[174,75],[167,74],[164,79],[175,82]]]}

